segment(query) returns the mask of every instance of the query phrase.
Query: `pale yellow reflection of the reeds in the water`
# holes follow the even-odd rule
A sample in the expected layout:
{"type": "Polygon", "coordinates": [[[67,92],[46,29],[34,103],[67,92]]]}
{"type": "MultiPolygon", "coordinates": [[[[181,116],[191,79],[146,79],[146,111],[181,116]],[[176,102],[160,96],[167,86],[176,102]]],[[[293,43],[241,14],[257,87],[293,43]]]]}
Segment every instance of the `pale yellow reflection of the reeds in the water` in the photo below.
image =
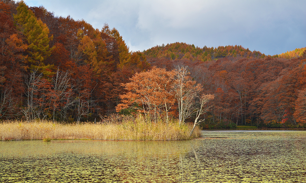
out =
{"type": "Polygon", "coordinates": [[[190,152],[191,145],[198,141],[104,141],[104,140],[51,140],[0,141],[0,152],[4,157],[54,156],[74,153],[90,156],[120,157],[127,161],[144,162],[159,158],[177,158],[190,152]]]}

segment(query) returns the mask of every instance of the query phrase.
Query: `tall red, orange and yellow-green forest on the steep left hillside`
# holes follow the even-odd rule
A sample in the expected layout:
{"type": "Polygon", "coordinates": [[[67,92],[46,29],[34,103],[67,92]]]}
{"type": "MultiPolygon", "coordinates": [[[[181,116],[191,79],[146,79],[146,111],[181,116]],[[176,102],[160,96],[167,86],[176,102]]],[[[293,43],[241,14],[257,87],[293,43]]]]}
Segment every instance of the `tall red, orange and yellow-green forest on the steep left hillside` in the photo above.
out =
{"type": "Polygon", "coordinates": [[[115,112],[121,83],[150,65],[118,30],[0,1],[0,117],[95,120],[115,112]]]}

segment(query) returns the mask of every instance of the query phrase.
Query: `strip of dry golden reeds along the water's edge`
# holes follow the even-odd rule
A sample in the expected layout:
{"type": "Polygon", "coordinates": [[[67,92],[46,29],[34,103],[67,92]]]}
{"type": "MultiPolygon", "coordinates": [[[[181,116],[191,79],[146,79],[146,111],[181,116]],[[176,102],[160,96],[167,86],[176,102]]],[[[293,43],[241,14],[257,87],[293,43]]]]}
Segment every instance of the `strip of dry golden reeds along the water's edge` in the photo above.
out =
{"type": "Polygon", "coordinates": [[[0,123],[0,140],[94,139],[94,140],[189,140],[200,136],[197,128],[190,136],[191,125],[177,123],[61,124],[52,121],[0,123]]]}

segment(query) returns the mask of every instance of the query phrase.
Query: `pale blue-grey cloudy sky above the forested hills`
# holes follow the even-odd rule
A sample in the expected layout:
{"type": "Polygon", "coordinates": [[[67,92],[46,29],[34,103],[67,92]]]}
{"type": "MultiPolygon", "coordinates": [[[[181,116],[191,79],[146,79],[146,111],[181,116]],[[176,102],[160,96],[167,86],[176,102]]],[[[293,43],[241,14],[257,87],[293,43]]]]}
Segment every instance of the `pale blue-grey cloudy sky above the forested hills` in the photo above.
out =
{"type": "Polygon", "coordinates": [[[115,27],[130,51],[184,42],[265,55],[306,47],[305,0],[24,0],[55,16],[115,27]]]}

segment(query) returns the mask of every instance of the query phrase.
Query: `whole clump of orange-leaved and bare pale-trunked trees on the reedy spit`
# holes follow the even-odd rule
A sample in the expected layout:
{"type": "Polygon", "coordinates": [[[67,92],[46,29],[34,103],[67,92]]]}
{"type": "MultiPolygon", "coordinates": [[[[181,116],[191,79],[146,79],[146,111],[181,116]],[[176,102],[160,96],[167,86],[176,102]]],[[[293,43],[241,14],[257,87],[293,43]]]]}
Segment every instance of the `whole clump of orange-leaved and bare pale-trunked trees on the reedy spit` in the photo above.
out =
{"type": "Polygon", "coordinates": [[[117,112],[135,109],[150,115],[155,122],[162,113],[166,114],[168,122],[170,109],[177,106],[180,125],[195,115],[194,129],[202,121],[199,121],[200,116],[210,108],[207,102],[214,98],[214,95],[201,95],[202,86],[192,81],[187,67],[171,71],[153,67],[147,72],[136,73],[130,81],[122,84],[127,92],[120,95],[122,103],[116,107],[117,112]]]}

